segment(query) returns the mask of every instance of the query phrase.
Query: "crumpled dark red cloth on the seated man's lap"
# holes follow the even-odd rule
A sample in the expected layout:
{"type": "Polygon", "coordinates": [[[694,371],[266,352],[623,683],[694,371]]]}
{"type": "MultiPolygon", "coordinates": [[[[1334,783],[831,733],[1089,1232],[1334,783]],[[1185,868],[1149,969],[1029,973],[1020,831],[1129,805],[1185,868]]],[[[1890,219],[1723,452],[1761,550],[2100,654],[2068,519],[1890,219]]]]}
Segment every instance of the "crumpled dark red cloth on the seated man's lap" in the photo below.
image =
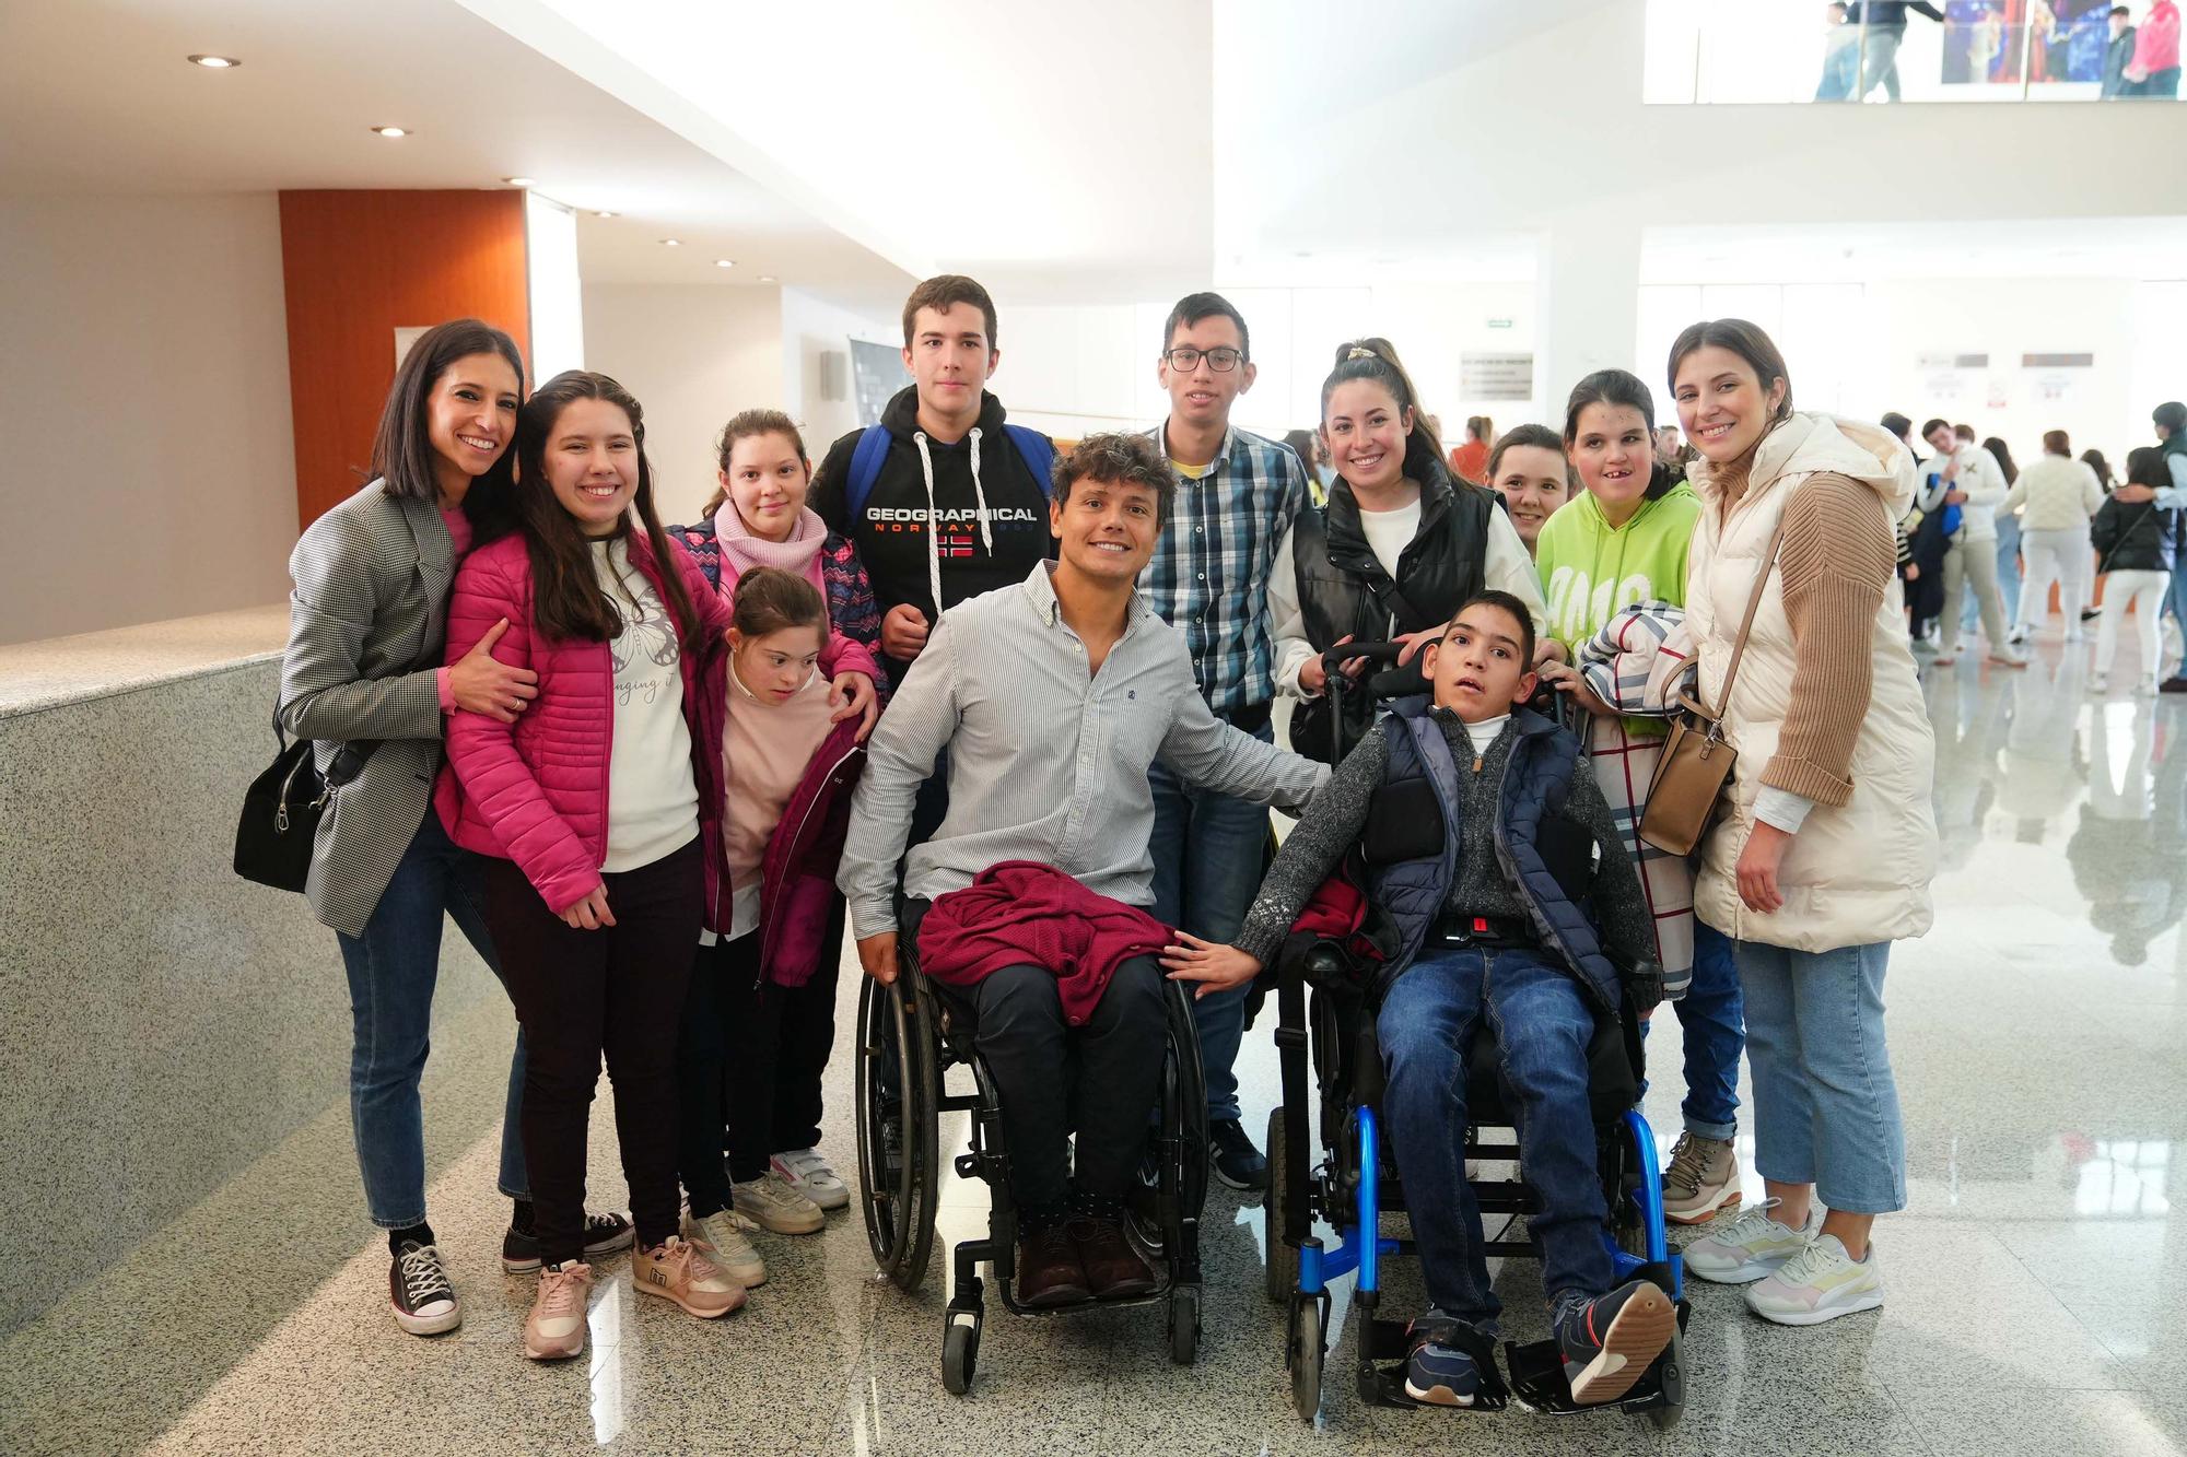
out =
{"type": "Polygon", "coordinates": [[[978,987],[1004,967],[1043,967],[1056,976],[1063,1015],[1085,1026],[1115,969],[1170,939],[1155,917],[1094,895],[1054,866],[1004,860],[934,901],[919,923],[919,967],[945,987],[978,987]]]}

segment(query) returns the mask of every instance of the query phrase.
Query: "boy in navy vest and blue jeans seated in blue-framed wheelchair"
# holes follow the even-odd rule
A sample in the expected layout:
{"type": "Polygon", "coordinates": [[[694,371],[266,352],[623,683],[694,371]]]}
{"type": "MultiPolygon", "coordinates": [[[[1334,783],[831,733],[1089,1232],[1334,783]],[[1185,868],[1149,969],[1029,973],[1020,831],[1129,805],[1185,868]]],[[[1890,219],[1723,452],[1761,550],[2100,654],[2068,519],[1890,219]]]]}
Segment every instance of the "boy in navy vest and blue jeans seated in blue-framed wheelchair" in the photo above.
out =
{"type": "Polygon", "coordinates": [[[1529,663],[1522,602],[1487,591],[1461,606],[1428,648],[1432,704],[1395,704],[1345,757],[1284,842],[1238,945],[1179,936],[1185,945],[1163,956],[1179,978],[1251,978],[1321,882],[1360,851],[1369,899],[1397,939],[1376,987],[1382,1111],[1432,1302],[1411,1328],[1406,1394],[1457,1407],[1481,1389],[1467,1348],[1487,1350],[1457,1328],[1498,1313],[1461,1153],[1476,1033],[1496,1037],[1513,1094],[1572,1400],[1618,1400],[1677,1330],[1653,1282],[1614,1286],[1588,1109],[1597,1015],[1618,1015],[1627,993],[1640,1011],[1660,995],[1647,901],[1577,739],[1524,707],[1529,663]]]}

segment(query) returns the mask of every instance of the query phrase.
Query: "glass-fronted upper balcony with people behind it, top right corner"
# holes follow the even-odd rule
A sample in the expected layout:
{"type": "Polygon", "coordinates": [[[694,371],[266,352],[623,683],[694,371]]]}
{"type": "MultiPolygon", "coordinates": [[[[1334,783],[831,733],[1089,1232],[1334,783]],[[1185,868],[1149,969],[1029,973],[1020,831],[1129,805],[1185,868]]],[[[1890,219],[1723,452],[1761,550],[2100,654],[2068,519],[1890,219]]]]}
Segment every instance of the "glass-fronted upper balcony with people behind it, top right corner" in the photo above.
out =
{"type": "Polygon", "coordinates": [[[2119,37],[2110,9],[2110,0],[1649,0],[1642,94],[1656,105],[2176,101],[2174,0],[2130,4],[2119,37]]]}

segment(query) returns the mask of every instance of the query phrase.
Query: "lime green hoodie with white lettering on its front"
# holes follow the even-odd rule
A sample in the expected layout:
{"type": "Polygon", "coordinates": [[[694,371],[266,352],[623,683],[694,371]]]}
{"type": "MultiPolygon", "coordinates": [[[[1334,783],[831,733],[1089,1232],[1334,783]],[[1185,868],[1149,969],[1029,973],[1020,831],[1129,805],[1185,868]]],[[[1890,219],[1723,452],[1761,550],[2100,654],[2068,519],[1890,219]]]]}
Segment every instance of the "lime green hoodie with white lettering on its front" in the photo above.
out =
{"type": "Polygon", "coordinates": [[[1684,606],[1686,549],[1699,518],[1701,497],[1686,481],[1642,501],[1623,527],[1603,518],[1592,492],[1572,497],[1535,543],[1548,634],[1577,650],[1636,602],[1684,606]]]}

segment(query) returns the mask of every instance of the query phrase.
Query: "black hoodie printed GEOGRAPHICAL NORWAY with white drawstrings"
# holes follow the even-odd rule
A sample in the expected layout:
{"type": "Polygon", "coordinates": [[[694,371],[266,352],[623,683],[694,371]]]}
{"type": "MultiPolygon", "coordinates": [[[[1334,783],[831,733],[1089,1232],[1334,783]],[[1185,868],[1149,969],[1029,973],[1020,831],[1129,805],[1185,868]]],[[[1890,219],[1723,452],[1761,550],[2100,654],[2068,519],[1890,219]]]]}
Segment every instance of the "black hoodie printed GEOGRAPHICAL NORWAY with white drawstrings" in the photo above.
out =
{"type": "Polygon", "coordinates": [[[864,431],[829,446],[809,505],[857,547],[884,615],[910,602],[932,623],[936,597],[951,608],[1017,586],[1050,556],[1048,492],[1002,422],[1002,400],[982,389],[980,424],[943,444],[919,429],[919,389],[899,389],[881,411],[888,457],[857,521],[849,518],[844,492],[864,431]]]}

